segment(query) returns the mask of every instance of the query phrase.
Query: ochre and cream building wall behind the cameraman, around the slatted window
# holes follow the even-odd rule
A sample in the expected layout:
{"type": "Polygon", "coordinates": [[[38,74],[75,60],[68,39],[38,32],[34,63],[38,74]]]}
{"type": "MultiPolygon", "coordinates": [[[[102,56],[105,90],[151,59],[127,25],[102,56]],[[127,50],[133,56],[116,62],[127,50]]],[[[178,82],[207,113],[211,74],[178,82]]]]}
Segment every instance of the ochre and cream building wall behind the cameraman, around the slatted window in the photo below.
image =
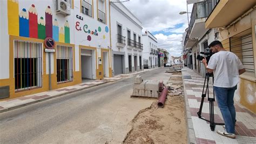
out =
{"type": "MultiPolygon", "coordinates": [[[[254,67],[256,67],[256,10],[254,9],[249,15],[242,18],[235,25],[232,25],[227,30],[220,31],[220,40],[224,44],[224,48],[228,50],[230,47],[229,38],[238,35],[241,32],[252,33],[253,44],[253,57],[254,67]]],[[[244,33],[245,34],[245,33],[244,33]]],[[[237,48],[239,49],[239,48],[237,48]]],[[[235,92],[235,100],[239,101],[242,105],[256,113],[256,72],[254,74],[244,73],[240,75],[240,82],[238,84],[238,90],[235,92]]]]}

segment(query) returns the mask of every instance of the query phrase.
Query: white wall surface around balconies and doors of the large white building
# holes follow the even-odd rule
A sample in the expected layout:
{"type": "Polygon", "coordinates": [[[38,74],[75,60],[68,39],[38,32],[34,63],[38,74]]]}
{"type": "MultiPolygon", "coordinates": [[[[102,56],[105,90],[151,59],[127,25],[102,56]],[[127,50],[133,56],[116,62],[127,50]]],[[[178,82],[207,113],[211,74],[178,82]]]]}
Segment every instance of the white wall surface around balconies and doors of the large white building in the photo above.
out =
{"type": "MultiPolygon", "coordinates": [[[[137,66],[139,67],[139,56],[142,56],[142,49],[133,47],[133,49],[127,49],[127,30],[131,31],[131,39],[133,40],[133,33],[136,33],[136,42],[138,42],[138,37],[140,37],[141,42],[143,43],[142,38],[142,23],[134,16],[132,13],[125,8],[122,3],[111,3],[111,42],[112,50],[116,52],[125,52],[125,68],[129,69],[129,59],[128,53],[132,55],[132,67],[134,68],[134,56],[137,55],[137,66]],[[118,47],[117,43],[117,25],[122,26],[122,36],[125,37],[125,46],[118,47]]],[[[144,48],[144,47],[143,47],[144,48]]],[[[143,59],[142,59],[143,65],[143,59]]],[[[139,68],[137,67],[137,70],[139,68]]],[[[134,71],[133,71],[134,72],[134,71]]],[[[126,73],[129,73],[126,71],[126,73]]]]}

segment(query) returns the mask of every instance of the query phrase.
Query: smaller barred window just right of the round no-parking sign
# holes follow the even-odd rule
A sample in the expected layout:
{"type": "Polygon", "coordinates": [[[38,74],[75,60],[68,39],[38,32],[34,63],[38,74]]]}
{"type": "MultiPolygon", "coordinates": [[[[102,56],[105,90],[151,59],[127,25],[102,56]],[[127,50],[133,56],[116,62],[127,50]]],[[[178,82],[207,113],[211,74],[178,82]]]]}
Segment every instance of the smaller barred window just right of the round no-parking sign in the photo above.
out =
{"type": "Polygon", "coordinates": [[[57,45],[57,82],[73,81],[73,47],[57,45]]]}

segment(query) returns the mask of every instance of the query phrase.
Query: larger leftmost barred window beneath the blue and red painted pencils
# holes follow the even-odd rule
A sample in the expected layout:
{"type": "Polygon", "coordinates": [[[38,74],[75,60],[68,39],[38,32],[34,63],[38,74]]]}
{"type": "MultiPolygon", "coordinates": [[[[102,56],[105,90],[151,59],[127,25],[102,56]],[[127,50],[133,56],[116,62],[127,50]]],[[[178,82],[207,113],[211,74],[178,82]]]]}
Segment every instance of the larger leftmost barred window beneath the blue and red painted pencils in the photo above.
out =
{"type": "Polygon", "coordinates": [[[15,91],[42,87],[42,44],[14,41],[15,91]]]}

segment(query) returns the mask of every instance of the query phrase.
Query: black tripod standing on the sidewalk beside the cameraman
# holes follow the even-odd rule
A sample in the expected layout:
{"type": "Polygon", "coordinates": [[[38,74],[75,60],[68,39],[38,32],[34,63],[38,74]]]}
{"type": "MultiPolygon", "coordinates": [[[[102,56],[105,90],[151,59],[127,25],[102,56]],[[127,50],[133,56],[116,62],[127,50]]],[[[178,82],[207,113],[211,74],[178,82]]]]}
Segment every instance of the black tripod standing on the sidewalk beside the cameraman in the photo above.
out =
{"type": "Polygon", "coordinates": [[[211,130],[214,131],[215,125],[225,125],[225,124],[224,123],[216,123],[216,122],[214,122],[213,102],[215,101],[215,95],[214,95],[214,91],[213,91],[213,98],[209,97],[209,79],[210,79],[210,77],[212,77],[212,79],[214,78],[213,77],[213,73],[206,73],[205,74],[205,83],[204,83],[204,88],[203,88],[203,92],[202,92],[202,99],[201,99],[201,104],[200,104],[199,112],[197,112],[197,115],[198,115],[198,118],[210,122],[211,130]],[[206,84],[206,79],[207,79],[207,84],[206,84]],[[206,86],[205,86],[205,84],[206,84],[206,86]],[[209,104],[210,104],[210,120],[207,120],[207,119],[201,117],[202,108],[203,108],[204,99],[206,97],[206,94],[207,94],[207,99],[208,99],[209,104]]]}

